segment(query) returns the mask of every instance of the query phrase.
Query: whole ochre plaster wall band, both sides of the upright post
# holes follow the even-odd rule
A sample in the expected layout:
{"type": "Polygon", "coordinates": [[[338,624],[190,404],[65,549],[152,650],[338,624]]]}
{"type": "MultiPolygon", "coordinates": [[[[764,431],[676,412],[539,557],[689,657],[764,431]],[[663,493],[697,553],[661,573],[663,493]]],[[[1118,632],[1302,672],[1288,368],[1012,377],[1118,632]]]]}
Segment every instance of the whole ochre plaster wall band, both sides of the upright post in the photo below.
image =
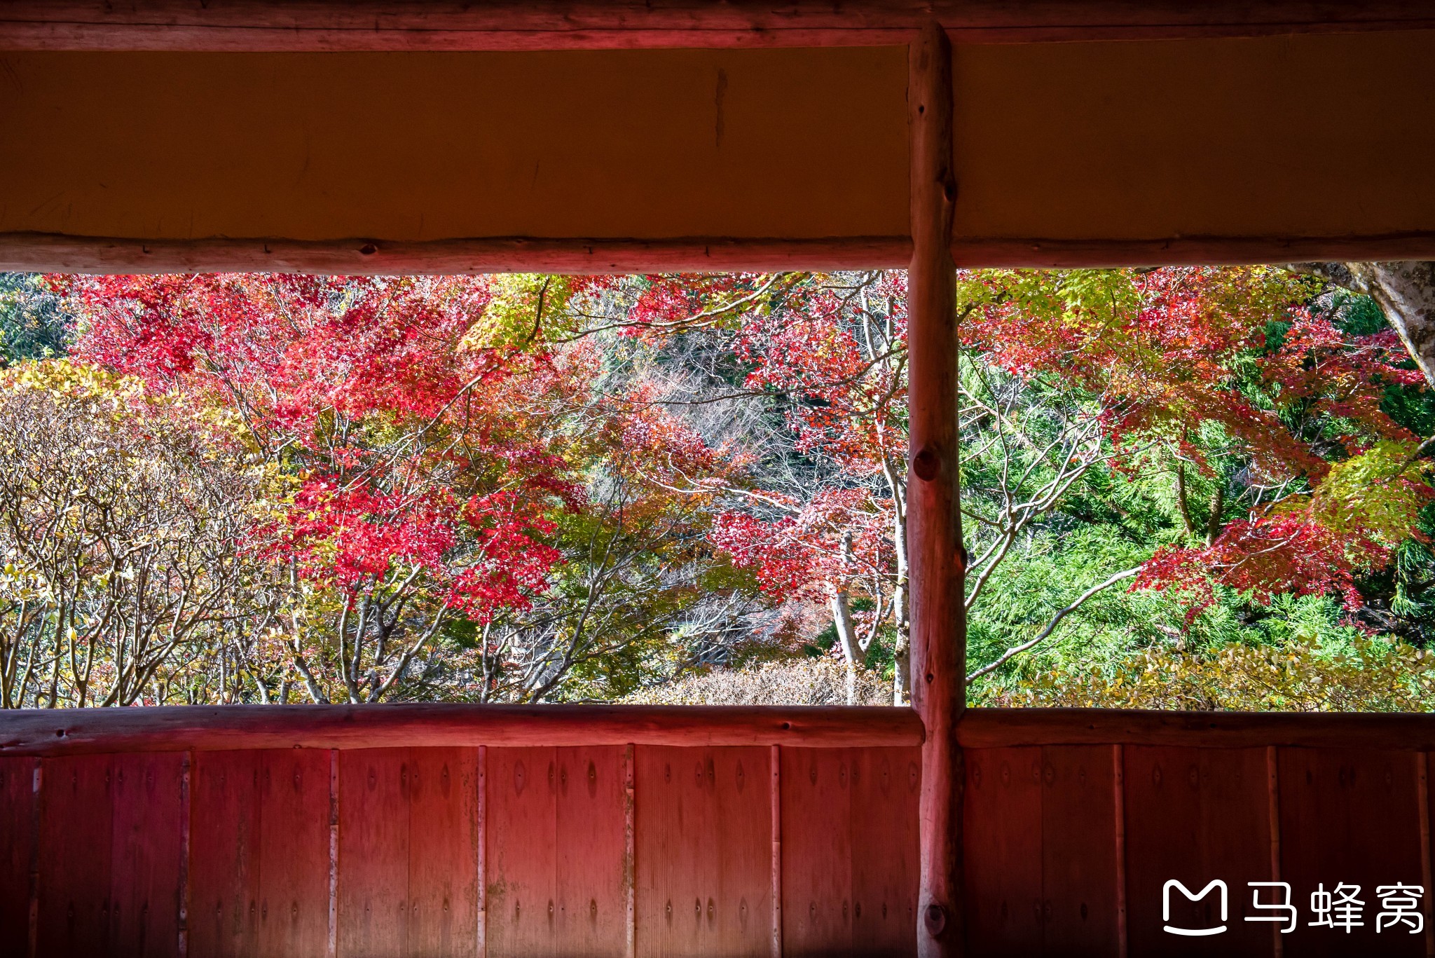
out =
{"type": "MultiPolygon", "coordinates": [[[[959,240],[1435,231],[1435,33],[956,50],[959,240]]],[[[0,234],[907,231],[905,49],[14,53],[0,234]]]]}

